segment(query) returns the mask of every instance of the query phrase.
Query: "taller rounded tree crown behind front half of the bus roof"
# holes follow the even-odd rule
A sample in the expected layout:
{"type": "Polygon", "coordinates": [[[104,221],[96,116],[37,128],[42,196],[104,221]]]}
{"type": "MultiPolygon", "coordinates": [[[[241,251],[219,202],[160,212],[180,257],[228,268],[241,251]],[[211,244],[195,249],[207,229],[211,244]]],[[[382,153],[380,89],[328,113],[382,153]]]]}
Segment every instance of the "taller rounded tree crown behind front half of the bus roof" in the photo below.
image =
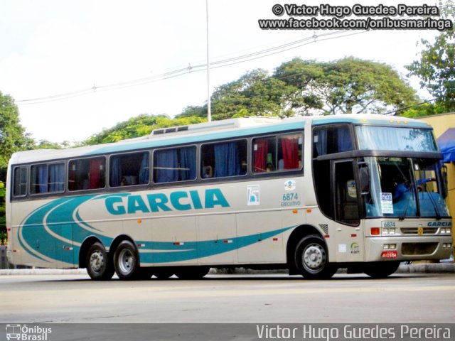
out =
{"type": "Polygon", "coordinates": [[[277,67],[274,77],[294,87],[296,114],[380,114],[417,101],[412,87],[390,65],[370,60],[295,58],[277,67]]]}

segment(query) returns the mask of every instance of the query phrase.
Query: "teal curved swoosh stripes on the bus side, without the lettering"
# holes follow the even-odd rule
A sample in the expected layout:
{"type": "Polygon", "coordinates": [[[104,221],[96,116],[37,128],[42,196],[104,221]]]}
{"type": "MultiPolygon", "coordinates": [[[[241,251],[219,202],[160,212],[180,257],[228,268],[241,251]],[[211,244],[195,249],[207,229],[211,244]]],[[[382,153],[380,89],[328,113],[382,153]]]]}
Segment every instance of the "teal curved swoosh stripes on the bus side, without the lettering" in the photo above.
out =
{"type": "MultiPolygon", "coordinates": [[[[84,222],[79,215],[80,205],[90,200],[102,200],[107,197],[127,196],[129,193],[117,193],[112,195],[82,195],[78,197],[63,197],[38,207],[31,212],[19,227],[19,242],[23,249],[33,255],[47,261],[72,261],[77,264],[80,247],[73,246],[73,254],[68,260],[68,251],[63,251],[68,247],[68,242],[62,239],[73,240],[76,244],[82,242],[90,236],[95,236],[101,240],[105,246],[110,246],[112,237],[101,234],[99,229],[92,227],[84,222]],[[48,230],[45,228],[48,227],[48,230]],[[60,239],[61,237],[62,239],[60,239]],[[42,256],[39,256],[39,255],[42,256]]],[[[168,263],[176,261],[188,261],[216,254],[223,254],[228,251],[247,247],[249,245],[269,239],[293,227],[285,227],[274,231],[263,232],[261,234],[250,234],[243,237],[225,238],[223,240],[207,240],[200,242],[185,242],[183,245],[175,245],[173,242],[154,242],[141,241],[137,244],[144,244],[146,247],[141,250],[140,259],[144,263],[168,263]]]]}

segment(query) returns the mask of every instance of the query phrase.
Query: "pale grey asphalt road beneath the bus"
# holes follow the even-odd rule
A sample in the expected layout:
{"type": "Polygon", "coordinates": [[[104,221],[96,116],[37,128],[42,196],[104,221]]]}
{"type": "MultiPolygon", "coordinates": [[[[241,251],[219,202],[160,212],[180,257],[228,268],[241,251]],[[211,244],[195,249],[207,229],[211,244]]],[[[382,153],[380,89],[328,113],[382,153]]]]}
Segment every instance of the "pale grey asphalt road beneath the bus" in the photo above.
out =
{"type": "Polygon", "coordinates": [[[454,323],[455,274],[0,276],[0,323],[454,323]]]}

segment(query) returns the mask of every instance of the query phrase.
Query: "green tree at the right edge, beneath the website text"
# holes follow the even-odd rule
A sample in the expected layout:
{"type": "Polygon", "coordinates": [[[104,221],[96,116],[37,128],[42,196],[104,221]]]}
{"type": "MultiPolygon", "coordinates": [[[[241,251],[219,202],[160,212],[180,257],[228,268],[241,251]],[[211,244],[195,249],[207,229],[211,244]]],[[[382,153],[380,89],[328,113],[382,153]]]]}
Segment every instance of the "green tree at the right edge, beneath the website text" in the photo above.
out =
{"type": "MultiPolygon", "coordinates": [[[[442,4],[440,4],[442,5],[442,4]]],[[[441,16],[454,21],[454,3],[441,6],[441,16]]],[[[420,87],[426,88],[446,112],[455,111],[455,33],[454,29],[439,34],[434,43],[421,39],[423,49],[419,60],[405,67],[408,76],[420,78],[420,87]]]]}

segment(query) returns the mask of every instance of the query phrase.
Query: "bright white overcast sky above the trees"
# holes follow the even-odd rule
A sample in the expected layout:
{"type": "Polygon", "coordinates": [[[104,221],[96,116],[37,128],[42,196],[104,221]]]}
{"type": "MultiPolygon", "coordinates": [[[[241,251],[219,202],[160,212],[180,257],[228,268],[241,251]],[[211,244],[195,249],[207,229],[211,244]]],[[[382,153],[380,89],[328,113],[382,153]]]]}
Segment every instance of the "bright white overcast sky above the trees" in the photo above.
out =
{"type": "MultiPolygon", "coordinates": [[[[37,141],[82,141],[139,114],[173,117],[247,71],[272,73],[295,57],[353,56],[392,65],[406,78],[404,66],[422,50],[417,41],[439,33],[260,29],[259,19],[289,18],[272,13],[275,4],[352,9],[397,1],[0,0],[0,92],[15,99],[21,124],[37,141]]],[[[431,98],[417,79],[409,82],[431,98]]]]}

